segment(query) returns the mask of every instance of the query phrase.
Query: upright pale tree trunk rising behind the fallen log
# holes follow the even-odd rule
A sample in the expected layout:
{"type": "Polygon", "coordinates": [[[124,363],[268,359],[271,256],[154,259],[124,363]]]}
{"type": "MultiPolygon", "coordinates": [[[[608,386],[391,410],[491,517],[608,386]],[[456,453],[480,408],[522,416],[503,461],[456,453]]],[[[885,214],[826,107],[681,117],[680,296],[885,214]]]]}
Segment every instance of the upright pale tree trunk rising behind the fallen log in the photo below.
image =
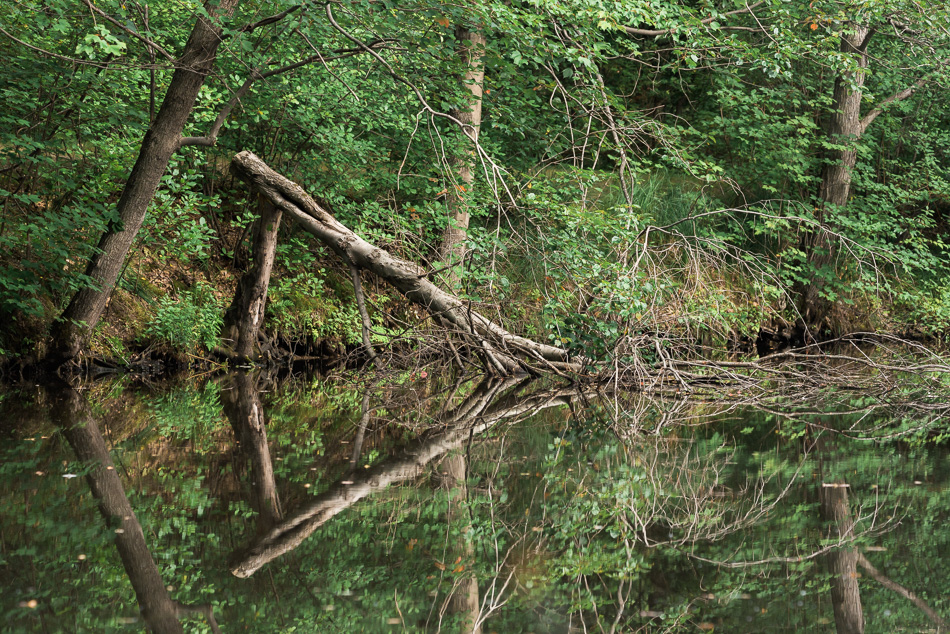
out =
{"type": "Polygon", "coordinates": [[[464,125],[462,132],[468,137],[464,151],[455,159],[457,181],[449,185],[445,204],[449,209],[449,224],[442,235],[442,259],[455,264],[446,273],[449,286],[454,286],[459,279],[459,266],[465,258],[465,240],[468,237],[469,200],[472,195],[472,186],[475,182],[475,149],[478,143],[478,131],[482,123],[482,90],[485,80],[485,70],[482,66],[482,55],[485,49],[485,36],[477,31],[469,31],[465,27],[455,29],[455,40],[458,42],[458,56],[468,69],[465,71],[463,82],[472,93],[467,108],[454,110],[452,116],[464,125]]]}

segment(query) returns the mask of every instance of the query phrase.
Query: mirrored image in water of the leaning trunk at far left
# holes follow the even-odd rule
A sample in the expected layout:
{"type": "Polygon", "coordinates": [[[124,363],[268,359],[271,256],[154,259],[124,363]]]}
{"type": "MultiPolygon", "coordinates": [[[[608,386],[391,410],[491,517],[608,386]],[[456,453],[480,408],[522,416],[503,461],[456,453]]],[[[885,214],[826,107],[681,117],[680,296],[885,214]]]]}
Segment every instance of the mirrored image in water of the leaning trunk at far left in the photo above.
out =
{"type": "Polygon", "coordinates": [[[210,605],[186,606],[169,596],[86,399],[67,386],[54,390],[50,396],[50,417],[62,428],[76,457],[89,466],[86,481],[106,525],[115,531],[116,550],[149,629],[159,634],[182,632],[179,617],[201,612],[212,630],[218,632],[210,605]]]}

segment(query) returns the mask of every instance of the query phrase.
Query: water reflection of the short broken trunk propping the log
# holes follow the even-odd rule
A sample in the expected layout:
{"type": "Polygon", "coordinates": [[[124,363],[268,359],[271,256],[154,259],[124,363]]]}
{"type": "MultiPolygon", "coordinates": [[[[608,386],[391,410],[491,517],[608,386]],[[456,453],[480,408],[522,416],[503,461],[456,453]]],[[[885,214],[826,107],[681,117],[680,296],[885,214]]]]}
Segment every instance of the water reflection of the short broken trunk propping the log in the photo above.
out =
{"type": "Polygon", "coordinates": [[[230,389],[221,390],[221,405],[234,429],[234,437],[251,462],[254,510],[258,513],[258,530],[265,533],[280,521],[281,511],[258,380],[246,372],[235,372],[231,375],[230,389]]]}

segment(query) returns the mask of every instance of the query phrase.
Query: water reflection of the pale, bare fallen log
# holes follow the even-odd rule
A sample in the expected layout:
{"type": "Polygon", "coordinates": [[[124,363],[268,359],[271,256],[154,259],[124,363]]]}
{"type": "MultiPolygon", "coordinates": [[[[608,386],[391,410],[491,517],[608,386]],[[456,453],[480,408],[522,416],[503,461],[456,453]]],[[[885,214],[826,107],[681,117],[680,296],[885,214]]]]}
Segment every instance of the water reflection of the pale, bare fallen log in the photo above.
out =
{"type": "Polygon", "coordinates": [[[261,537],[231,567],[238,577],[249,577],[262,566],[299,546],[313,531],[357,501],[390,484],[422,474],[425,466],[462,446],[501,420],[521,420],[538,411],[565,405],[581,394],[577,388],[544,391],[528,397],[501,394],[518,379],[487,381],[439,422],[441,433],[429,436],[397,456],[361,472],[344,476],[312,502],[261,537]]]}

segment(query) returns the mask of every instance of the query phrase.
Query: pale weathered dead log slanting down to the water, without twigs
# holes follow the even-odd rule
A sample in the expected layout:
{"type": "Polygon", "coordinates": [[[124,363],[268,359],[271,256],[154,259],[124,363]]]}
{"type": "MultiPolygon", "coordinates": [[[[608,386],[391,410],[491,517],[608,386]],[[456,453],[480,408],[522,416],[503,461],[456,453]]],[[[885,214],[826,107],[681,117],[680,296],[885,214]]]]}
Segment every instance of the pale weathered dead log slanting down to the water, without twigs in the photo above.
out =
{"type": "Polygon", "coordinates": [[[350,231],[321,207],[304,189],[281,176],[251,152],[241,152],[231,169],[343,258],[347,265],[367,269],[391,284],[406,298],[425,308],[441,323],[457,329],[492,369],[515,374],[538,369],[580,372],[585,360],[567,350],[514,335],[478,314],[458,297],[428,279],[421,267],[388,253],[350,231]]]}

